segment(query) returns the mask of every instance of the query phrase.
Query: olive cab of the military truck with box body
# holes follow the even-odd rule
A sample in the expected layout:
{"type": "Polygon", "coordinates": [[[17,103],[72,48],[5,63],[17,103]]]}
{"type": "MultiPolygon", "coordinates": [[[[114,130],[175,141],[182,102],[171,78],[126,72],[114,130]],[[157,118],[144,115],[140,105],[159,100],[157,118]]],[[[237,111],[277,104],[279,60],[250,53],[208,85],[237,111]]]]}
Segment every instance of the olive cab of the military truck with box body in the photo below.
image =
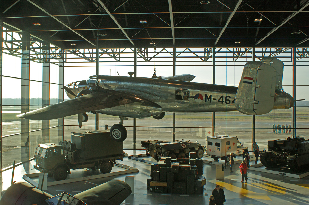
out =
{"type": "Polygon", "coordinates": [[[64,162],[63,147],[53,143],[40,144],[36,147],[34,168],[40,172],[48,172],[52,175],[54,167],[64,162]]]}

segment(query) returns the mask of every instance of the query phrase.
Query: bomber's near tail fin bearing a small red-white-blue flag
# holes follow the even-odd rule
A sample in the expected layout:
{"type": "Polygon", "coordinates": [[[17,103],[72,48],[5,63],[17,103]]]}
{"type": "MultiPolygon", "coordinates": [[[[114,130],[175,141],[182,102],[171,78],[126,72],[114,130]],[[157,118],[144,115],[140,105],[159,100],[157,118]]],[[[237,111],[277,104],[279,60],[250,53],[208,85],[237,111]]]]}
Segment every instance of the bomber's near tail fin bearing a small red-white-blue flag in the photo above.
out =
{"type": "Polygon", "coordinates": [[[276,70],[262,62],[248,62],[235,97],[236,109],[246,115],[269,113],[274,106],[276,70]]]}

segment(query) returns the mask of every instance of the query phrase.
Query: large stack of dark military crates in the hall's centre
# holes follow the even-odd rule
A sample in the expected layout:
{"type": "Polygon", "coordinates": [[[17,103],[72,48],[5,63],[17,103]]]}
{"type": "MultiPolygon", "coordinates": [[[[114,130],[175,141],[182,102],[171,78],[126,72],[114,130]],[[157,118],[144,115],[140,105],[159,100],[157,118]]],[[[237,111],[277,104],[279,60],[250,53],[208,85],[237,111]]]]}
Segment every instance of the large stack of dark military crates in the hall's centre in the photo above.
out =
{"type": "Polygon", "coordinates": [[[158,164],[151,165],[147,189],[150,192],[172,194],[203,194],[206,179],[203,160],[192,152],[188,158],[161,157],[158,164]]]}

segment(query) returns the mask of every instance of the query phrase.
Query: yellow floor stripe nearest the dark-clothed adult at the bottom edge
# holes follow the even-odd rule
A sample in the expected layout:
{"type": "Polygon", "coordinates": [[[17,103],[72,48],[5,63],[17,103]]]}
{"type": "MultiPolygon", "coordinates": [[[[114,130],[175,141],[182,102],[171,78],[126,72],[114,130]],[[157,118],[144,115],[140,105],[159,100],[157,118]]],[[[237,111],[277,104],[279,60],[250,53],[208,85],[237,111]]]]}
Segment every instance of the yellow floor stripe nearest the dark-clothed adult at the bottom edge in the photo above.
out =
{"type": "MultiPolygon", "coordinates": [[[[231,185],[231,184],[228,184],[228,183],[225,183],[225,182],[217,182],[216,184],[218,184],[222,187],[225,187],[229,191],[239,193],[240,195],[244,195],[244,196],[252,198],[252,199],[264,199],[264,200],[271,201],[269,196],[267,196],[266,194],[259,194],[259,193],[256,193],[254,191],[250,191],[250,190],[247,190],[247,189],[236,187],[234,185],[231,185]]],[[[243,185],[246,186],[246,184],[243,184],[243,185]]]]}

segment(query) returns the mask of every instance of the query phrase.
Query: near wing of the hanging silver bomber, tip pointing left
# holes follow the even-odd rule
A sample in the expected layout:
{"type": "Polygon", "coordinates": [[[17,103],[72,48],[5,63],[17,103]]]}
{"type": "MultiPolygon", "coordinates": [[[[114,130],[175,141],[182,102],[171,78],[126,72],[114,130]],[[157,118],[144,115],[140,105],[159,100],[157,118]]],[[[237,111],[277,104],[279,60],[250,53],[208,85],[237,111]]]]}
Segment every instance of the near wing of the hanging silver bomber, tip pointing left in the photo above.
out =
{"type": "Polygon", "coordinates": [[[159,106],[146,98],[134,94],[101,88],[98,91],[93,91],[77,98],[17,115],[17,117],[33,120],[50,120],[133,102],[145,102],[153,107],[159,106]]]}

